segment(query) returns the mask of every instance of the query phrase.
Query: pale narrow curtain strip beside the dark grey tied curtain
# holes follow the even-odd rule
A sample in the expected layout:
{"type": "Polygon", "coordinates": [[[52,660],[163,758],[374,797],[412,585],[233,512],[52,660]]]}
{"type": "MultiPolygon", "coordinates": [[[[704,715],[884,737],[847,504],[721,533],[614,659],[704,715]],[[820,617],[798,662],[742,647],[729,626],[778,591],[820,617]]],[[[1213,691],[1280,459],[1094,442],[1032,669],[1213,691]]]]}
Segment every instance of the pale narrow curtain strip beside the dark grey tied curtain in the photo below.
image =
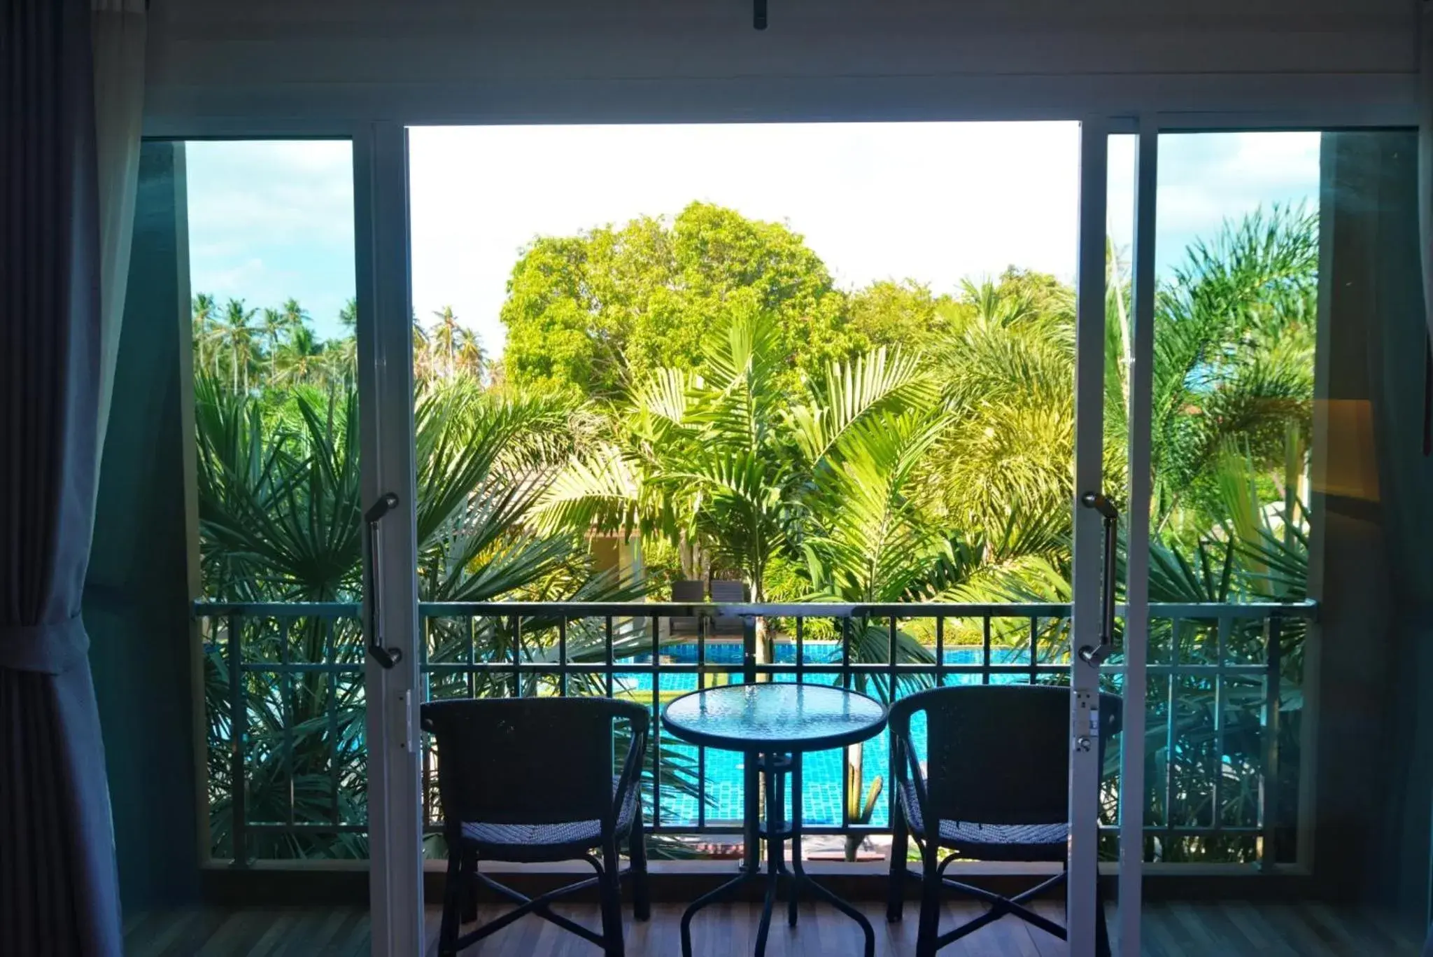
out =
{"type": "Polygon", "coordinates": [[[99,429],[105,449],[135,232],[145,108],[145,0],[93,0],[95,152],[99,164],[99,429]]]}

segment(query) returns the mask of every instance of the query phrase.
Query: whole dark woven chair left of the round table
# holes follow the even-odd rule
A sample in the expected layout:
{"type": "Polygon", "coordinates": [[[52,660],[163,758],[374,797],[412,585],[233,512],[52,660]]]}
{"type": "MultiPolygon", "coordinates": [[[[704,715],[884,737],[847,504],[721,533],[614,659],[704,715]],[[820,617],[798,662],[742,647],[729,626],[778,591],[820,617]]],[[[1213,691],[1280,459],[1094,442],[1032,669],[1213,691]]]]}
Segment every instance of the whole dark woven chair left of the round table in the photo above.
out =
{"type": "Polygon", "coordinates": [[[440,957],[451,957],[526,914],[590,940],[606,957],[620,957],[623,877],[632,875],[633,915],[646,920],[651,913],[639,781],[648,726],[645,707],[606,697],[459,699],[423,706],[423,729],[437,740],[449,847],[440,957]],[[613,775],[619,720],[628,725],[629,743],[620,772],[613,775]],[[618,857],[622,841],[631,847],[628,871],[618,857]],[[535,898],[477,871],[480,859],[579,858],[596,877],[535,898]],[[593,884],[602,897],[600,934],[549,907],[593,884]],[[460,937],[460,920],[477,920],[479,885],[517,907],[460,937]]]}

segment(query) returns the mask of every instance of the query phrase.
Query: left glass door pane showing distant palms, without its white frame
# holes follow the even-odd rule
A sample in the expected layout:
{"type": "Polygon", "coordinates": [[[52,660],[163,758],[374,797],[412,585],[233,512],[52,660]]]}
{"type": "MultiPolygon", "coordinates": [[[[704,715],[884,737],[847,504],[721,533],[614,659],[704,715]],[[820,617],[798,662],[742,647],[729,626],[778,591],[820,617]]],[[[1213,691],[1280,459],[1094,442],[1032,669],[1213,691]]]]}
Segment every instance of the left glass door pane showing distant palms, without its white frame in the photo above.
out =
{"type": "Polygon", "coordinates": [[[353,146],[145,151],[171,169],[188,240],[208,851],[241,868],[361,859],[353,146]]]}

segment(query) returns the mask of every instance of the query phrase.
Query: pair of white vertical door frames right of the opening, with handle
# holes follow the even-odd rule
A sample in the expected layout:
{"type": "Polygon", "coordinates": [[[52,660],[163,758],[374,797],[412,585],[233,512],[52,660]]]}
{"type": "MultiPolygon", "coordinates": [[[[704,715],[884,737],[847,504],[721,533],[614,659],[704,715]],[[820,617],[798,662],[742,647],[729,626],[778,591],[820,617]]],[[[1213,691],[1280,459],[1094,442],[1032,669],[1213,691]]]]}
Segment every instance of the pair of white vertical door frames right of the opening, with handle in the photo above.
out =
{"type": "Polygon", "coordinates": [[[1129,488],[1125,524],[1123,713],[1119,778],[1119,918],[1112,930],[1118,953],[1141,953],[1144,891],[1145,696],[1149,633],[1149,445],[1154,372],[1155,194],[1158,188],[1159,123],[1144,116],[1136,125],[1122,118],[1088,119],[1080,128],[1080,212],[1076,306],[1075,392],[1075,551],[1070,623],[1070,848],[1069,953],[1095,953],[1095,884],[1098,880],[1099,815],[1099,669],[1073,651],[1093,646],[1101,628],[1099,517],[1082,508],[1083,492],[1099,492],[1103,465],[1105,296],[1108,235],[1109,135],[1138,133],[1135,161],[1135,242],[1131,308],[1131,367],[1128,409],[1129,488]]]}

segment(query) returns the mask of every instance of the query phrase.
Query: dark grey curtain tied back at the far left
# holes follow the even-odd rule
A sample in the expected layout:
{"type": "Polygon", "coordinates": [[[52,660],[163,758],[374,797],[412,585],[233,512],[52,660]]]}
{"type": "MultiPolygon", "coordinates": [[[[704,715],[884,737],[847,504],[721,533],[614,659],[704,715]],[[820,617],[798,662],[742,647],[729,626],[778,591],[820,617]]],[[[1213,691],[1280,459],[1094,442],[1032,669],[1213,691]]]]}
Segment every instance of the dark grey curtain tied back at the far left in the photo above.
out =
{"type": "Polygon", "coordinates": [[[99,222],[89,0],[0,14],[0,954],[122,950],[80,621],[99,222]]]}

